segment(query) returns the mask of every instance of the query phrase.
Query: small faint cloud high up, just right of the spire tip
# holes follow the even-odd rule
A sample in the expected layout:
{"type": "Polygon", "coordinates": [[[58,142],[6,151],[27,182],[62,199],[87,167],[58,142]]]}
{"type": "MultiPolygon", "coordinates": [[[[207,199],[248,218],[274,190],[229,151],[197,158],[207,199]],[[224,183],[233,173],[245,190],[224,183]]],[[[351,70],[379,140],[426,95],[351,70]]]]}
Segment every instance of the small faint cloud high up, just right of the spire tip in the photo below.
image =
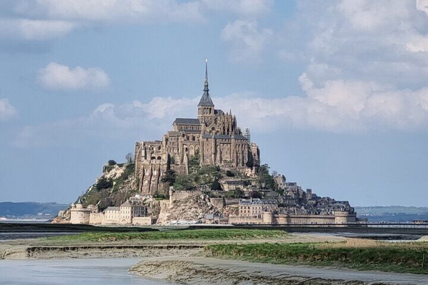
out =
{"type": "Polygon", "coordinates": [[[255,21],[236,20],[223,28],[221,38],[232,45],[233,61],[257,61],[272,34],[270,29],[259,30],[255,21]]]}

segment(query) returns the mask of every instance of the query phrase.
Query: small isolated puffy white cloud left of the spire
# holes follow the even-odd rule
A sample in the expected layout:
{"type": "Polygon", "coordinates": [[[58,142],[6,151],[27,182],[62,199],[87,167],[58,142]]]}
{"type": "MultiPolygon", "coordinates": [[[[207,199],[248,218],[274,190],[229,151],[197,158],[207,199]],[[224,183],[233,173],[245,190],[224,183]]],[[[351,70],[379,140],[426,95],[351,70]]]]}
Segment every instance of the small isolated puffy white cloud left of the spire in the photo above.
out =
{"type": "Polygon", "coordinates": [[[102,89],[109,85],[109,76],[100,68],[70,68],[55,62],[41,68],[37,81],[47,89],[102,89]]]}

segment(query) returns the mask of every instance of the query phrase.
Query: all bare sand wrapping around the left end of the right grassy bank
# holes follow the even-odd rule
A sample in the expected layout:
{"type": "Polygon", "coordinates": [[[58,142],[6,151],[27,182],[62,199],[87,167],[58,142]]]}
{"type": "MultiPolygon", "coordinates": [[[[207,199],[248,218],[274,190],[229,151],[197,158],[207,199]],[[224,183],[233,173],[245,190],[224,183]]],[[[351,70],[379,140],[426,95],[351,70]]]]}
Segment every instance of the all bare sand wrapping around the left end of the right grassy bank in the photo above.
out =
{"type": "MultiPolygon", "coordinates": [[[[342,242],[329,235],[291,234],[259,240],[157,240],[61,245],[49,240],[13,240],[0,243],[0,259],[124,258],[143,259],[130,272],[183,284],[428,284],[428,276],[338,268],[274,265],[205,258],[207,244],[342,242]]],[[[1,262],[1,261],[0,261],[1,262]]]]}

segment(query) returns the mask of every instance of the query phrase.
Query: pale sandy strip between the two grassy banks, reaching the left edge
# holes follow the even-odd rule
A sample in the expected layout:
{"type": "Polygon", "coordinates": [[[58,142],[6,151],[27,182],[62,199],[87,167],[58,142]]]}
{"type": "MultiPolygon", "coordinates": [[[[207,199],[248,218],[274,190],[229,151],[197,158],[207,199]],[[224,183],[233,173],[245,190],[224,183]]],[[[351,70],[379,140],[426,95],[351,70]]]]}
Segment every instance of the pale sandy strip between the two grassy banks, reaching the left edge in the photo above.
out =
{"type": "Polygon", "coordinates": [[[52,259],[52,258],[120,258],[191,256],[209,244],[249,244],[249,243],[306,243],[341,242],[342,237],[292,234],[284,239],[257,240],[141,240],[119,242],[62,243],[43,239],[2,241],[0,259],[52,259]]]}

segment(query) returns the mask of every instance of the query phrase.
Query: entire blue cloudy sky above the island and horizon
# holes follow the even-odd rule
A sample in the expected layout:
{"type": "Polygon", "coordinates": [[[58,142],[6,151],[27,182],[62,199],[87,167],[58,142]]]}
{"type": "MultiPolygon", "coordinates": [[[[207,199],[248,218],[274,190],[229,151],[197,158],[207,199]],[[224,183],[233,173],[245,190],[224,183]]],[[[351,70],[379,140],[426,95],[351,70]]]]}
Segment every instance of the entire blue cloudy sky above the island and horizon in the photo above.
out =
{"type": "Polygon", "coordinates": [[[426,206],[427,0],[3,0],[0,201],[70,203],[196,118],[205,58],[271,170],[354,206],[426,206]]]}

